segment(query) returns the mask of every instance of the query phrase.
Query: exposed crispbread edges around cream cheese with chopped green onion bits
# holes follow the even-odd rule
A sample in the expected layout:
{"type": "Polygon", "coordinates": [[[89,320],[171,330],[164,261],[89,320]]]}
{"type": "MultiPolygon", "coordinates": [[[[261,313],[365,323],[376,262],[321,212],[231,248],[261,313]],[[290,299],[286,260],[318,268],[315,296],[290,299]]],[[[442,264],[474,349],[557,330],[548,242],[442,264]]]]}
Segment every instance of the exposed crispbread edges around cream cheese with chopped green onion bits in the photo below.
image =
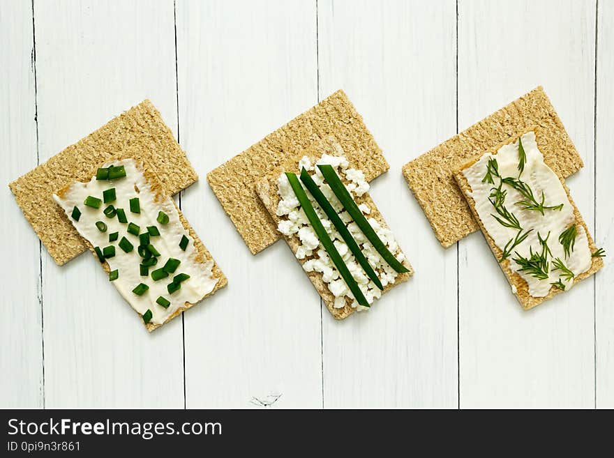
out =
{"type": "MultiPolygon", "coordinates": [[[[119,159],[119,158],[114,158],[114,159],[119,159]]],[[[122,157],[121,159],[128,159],[128,158],[122,157]]],[[[105,162],[109,162],[109,161],[105,161],[105,162]]],[[[160,180],[158,180],[158,178],[156,177],[156,173],[149,166],[149,164],[147,164],[146,162],[144,162],[142,160],[135,160],[135,162],[137,162],[137,169],[140,169],[140,171],[142,171],[143,175],[145,176],[145,178],[147,178],[147,181],[151,185],[151,191],[154,192],[156,194],[156,196],[159,196],[160,199],[165,199],[168,194],[167,194],[165,188],[163,187],[162,183],[160,183],[160,180]]],[[[100,164],[100,165],[103,165],[103,164],[100,164]]],[[[96,173],[90,175],[89,178],[84,179],[84,181],[89,181],[89,179],[92,176],[94,176],[95,174],[96,173]]],[[[72,183],[74,183],[74,182],[75,181],[71,181],[70,183],[68,183],[68,185],[64,186],[61,190],[58,190],[57,192],[55,192],[55,194],[57,194],[57,195],[59,195],[61,197],[63,194],[65,194],[68,191],[68,188],[70,188],[70,185],[72,183]]],[[[175,204],[174,201],[173,201],[173,204],[174,204],[175,208],[177,208],[177,213],[179,213],[179,220],[181,220],[181,224],[184,226],[184,229],[186,229],[186,231],[188,231],[188,234],[190,234],[190,237],[193,238],[194,246],[195,246],[195,248],[196,248],[196,250],[198,252],[198,257],[196,258],[196,261],[201,262],[201,263],[205,263],[207,261],[213,261],[213,263],[214,263],[213,267],[211,268],[211,275],[214,278],[217,278],[218,282],[214,286],[214,289],[211,290],[211,292],[209,292],[207,295],[205,295],[203,298],[200,299],[200,300],[202,300],[204,298],[207,298],[207,297],[211,296],[218,289],[225,287],[226,284],[228,283],[228,281],[227,281],[227,278],[225,277],[224,273],[222,272],[222,270],[219,268],[218,264],[216,263],[216,260],[211,256],[211,253],[209,252],[209,250],[207,250],[207,247],[204,246],[204,243],[202,243],[200,238],[198,238],[198,236],[197,236],[196,232],[194,231],[193,227],[190,226],[190,223],[188,222],[188,220],[186,220],[186,217],[184,217],[184,214],[181,213],[181,210],[179,209],[177,204],[175,204]]],[[[70,222],[70,220],[68,219],[68,216],[63,211],[63,209],[59,205],[57,205],[55,203],[54,203],[54,205],[56,205],[60,209],[61,217],[63,218],[64,222],[66,222],[67,224],[70,224],[70,226],[73,227],[73,224],[70,222]]],[[[75,231],[76,231],[76,229],[75,229],[75,231]]],[[[87,241],[85,238],[81,238],[81,239],[82,239],[84,245],[93,254],[93,257],[96,259],[96,264],[100,264],[100,261],[98,261],[98,255],[94,251],[94,248],[91,245],[91,243],[89,243],[89,241],[87,241]]],[[[104,262],[101,265],[103,266],[103,268],[104,268],[104,270],[105,270],[105,272],[107,274],[110,273],[109,264],[107,264],[107,262],[104,262]]],[[[195,303],[188,303],[188,302],[186,302],[183,307],[179,307],[173,314],[171,314],[164,321],[164,323],[156,324],[156,323],[149,322],[147,324],[144,324],[144,326],[151,333],[151,331],[159,328],[160,326],[163,326],[163,324],[165,324],[165,323],[168,323],[175,316],[178,316],[179,314],[181,314],[181,312],[184,312],[185,310],[188,310],[190,307],[193,307],[193,305],[195,305],[195,303]]],[[[139,314],[138,312],[137,312],[137,314],[139,316],[142,316],[142,314],[139,314]]]]}

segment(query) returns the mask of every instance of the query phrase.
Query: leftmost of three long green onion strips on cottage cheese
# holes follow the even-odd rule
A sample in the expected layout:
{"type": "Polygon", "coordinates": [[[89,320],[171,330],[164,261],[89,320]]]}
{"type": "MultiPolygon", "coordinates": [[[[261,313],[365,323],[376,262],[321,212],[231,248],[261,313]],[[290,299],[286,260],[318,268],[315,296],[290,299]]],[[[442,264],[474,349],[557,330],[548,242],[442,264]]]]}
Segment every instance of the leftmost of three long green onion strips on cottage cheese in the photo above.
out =
{"type": "Polygon", "coordinates": [[[364,294],[359,288],[358,283],[356,282],[356,280],[354,280],[354,277],[352,277],[350,270],[345,265],[345,262],[343,262],[343,258],[337,251],[337,248],[333,244],[333,241],[331,241],[329,234],[327,234],[326,229],[324,229],[324,226],[322,226],[320,218],[317,217],[317,213],[315,213],[313,206],[311,206],[311,202],[309,201],[305,190],[301,186],[299,178],[297,178],[296,174],[292,174],[290,172],[286,172],[285,175],[290,182],[290,186],[292,186],[294,194],[299,200],[299,204],[301,204],[301,207],[305,211],[307,219],[311,223],[311,227],[313,227],[317,238],[319,238],[320,242],[322,242],[322,245],[324,245],[324,250],[327,250],[327,253],[333,260],[337,270],[339,270],[341,277],[343,277],[343,280],[345,280],[345,284],[347,284],[347,287],[350,288],[350,291],[352,291],[352,294],[354,294],[354,298],[356,298],[357,302],[360,305],[364,307],[370,307],[369,303],[364,297],[364,294]]]}

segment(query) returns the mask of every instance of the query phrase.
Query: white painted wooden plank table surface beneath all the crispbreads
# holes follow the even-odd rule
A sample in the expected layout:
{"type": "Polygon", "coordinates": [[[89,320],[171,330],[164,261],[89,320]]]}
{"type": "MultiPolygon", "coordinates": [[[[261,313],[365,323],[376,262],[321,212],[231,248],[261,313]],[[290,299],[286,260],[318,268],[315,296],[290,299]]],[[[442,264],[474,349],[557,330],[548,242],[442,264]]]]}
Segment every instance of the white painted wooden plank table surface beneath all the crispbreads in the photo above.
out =
{"type": "Polygon", "coordinates": [[[541,84],[614,255],[613,79],[611,0],[3,0],[0,407],[614,407],[611,257],[523,312],[483,236],[442,249],[400,171],[541,84]],[[283,242],[248,252],[204,179],[340,88],[416,269],[343,322],[283,242]],[[200,174],[181,206],[229,279],[151,335],[93,257],[54,264],[6,186],[144,98],[200,174]]]}

